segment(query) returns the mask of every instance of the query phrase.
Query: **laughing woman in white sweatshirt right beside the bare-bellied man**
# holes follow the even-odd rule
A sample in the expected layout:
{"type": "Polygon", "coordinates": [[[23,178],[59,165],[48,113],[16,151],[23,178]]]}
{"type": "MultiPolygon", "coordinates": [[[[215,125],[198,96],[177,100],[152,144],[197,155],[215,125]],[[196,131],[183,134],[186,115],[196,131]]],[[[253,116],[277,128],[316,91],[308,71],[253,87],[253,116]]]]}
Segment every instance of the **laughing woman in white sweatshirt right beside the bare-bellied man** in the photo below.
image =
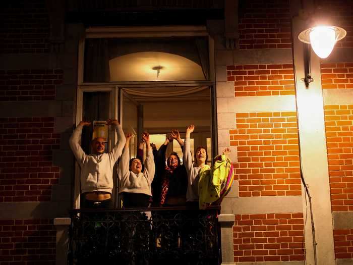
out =
{"type": "Polygon", "coordinates": [[[144,171],[139,158],[129,157],[129,142],[132,134],[126,135],[126,144],[120,158],[117,176],[119,178],[119,194],[123,195],[123,207],[148,207],[151,193],[151,183],[154,177],[155,165],[153,160],[150,138],[147,132],[142,134],[146,146],[146,160],[144,171]]]}

